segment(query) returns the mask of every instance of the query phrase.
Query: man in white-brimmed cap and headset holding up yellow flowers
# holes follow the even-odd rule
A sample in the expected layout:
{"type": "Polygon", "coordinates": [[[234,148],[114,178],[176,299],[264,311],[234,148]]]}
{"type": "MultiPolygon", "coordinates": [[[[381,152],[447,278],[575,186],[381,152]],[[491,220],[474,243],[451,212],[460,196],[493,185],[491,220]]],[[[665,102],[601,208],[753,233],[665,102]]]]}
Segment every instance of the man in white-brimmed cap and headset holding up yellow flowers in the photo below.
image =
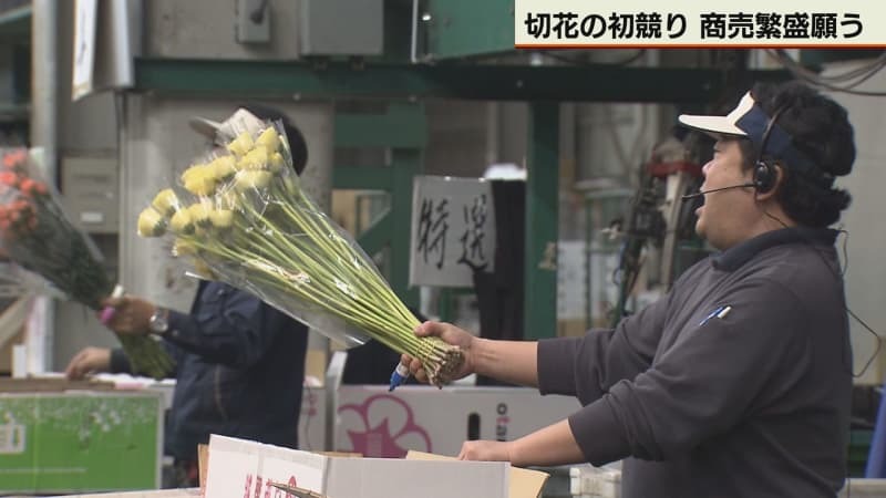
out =
{"type": "Polygon", "coordinates": [[[460,456],[624,459],[626,498],[833,497],[846,474],[853,364],[827,228],[849,201],[833,185],[855,159],[846,111],[789,83],[754,87],[727,116],[680,123],[717,138],[696,229],[720,252],[667,295],[584,338],[416,330],[461,345],[465,374],[581,402],[565,421],[513,442],[467,442],[460,456]]]}

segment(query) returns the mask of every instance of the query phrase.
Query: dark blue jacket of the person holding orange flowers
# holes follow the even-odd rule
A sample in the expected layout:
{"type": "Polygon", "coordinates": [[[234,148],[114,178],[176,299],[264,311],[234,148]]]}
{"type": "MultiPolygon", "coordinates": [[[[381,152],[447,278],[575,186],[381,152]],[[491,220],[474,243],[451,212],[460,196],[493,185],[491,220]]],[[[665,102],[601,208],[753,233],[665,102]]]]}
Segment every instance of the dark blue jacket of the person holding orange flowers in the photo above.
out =
{"type": "MultiPolygon", "coordinates": [[[[169,311],[176,361],[166,453],[195,460],[210,434],[298,447],[307,326],[248,292],[200,281],[190,313],[169,311]]],[[[122,350],[112,372],[128,372],[122,350]]]]}

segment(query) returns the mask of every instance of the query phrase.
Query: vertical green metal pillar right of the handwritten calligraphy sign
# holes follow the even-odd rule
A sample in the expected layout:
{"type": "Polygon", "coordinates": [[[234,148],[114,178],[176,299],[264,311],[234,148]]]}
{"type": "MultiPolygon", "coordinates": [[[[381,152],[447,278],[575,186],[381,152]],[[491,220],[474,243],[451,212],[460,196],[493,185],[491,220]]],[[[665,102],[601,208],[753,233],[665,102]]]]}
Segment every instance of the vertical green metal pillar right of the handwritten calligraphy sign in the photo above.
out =
{"type": "Polygon", "coordinates": [[[526,339],[553,338],[557,332],[558,149],[559,105],[530,103],[523,301],[526,339]]]}

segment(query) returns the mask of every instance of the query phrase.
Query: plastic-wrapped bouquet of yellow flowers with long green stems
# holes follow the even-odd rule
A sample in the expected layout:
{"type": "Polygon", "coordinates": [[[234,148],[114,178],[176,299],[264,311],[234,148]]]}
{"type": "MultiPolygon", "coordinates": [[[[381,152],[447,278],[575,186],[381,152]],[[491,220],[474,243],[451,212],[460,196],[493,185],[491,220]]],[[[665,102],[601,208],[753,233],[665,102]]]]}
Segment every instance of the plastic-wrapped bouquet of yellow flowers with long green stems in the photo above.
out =
{"type": "Polygon", "coordinates": [[[279,123],[241,122],[224,149],[197,160],[138,217],[198,273],[258,295],[346,345],[373,338],[419,359],[443,385],[461,350],[418,338],[418,319],[372,260],[302,190],[279,123]]]}

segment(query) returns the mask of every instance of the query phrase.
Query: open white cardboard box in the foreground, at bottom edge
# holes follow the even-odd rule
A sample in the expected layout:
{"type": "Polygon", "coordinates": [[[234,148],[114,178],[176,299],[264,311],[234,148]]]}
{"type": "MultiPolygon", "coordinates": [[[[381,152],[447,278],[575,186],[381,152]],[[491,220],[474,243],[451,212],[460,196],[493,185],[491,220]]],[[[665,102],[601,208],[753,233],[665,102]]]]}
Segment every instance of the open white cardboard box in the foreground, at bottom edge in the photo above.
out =
{"type": "Polygon", "coordinates": [[[206,498],[282,496],[272,483],[329,498],[507,498],[501,461],[342,458],[213,435],[206,498]]]}

